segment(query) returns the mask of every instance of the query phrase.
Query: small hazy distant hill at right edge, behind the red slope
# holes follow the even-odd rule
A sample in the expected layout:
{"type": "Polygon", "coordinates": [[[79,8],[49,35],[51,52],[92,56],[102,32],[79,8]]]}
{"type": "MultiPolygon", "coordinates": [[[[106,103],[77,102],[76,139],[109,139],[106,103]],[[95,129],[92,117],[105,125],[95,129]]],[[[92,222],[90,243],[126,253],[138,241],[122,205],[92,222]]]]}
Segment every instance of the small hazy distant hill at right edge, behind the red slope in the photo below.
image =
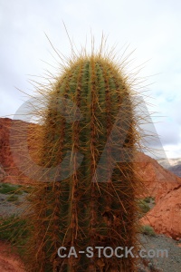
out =
{"type": "Polygon", "coordinates": [[[179,159],[160,159],[157,162],[165,169],[173,172],[176,176],[181,177],[181,158],[179,159]]]}

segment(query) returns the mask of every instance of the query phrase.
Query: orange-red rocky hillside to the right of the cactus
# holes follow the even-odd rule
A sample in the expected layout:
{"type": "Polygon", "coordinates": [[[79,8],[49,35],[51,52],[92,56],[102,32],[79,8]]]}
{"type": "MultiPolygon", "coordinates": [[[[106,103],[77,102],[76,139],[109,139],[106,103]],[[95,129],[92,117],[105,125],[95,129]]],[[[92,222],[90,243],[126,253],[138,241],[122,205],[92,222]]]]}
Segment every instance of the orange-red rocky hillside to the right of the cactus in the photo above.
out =
{"type": "Polygon", "coordinates": [[[156,197],[156,206],[141,219],[157,233],[181,238],[181,179],[165,170],[156,160],[138,153],[140,175],[148,187],[148,195],[156,197]]]}

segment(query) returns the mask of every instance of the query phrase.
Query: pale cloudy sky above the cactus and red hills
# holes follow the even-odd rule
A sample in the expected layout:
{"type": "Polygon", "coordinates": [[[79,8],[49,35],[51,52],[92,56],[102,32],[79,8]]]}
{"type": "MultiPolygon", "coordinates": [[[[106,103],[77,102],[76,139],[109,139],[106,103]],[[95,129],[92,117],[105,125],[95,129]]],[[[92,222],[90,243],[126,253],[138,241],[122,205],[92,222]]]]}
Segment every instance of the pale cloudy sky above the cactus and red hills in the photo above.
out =
{"type": "MultiPolygon", "coordinates": [[[[34,93],[30,80],[41,81],[46,70],[60,69],[53,46],[71,55],[71,41],[81,48],[100,44],[102,32],[110,47],[117,44],[132,60],[128,73],[139,77],[158,148],[167,158],[181,157],[181,1],[179,0],[0,0],[0,117],[15,112],[34,93]],[[132,66],[131,66],[132,65],[132,66]],[[134,70],[134,71],[135,71],[134,70]],[[37,77],[38,76],[38,77],[37,77]],[[20,92],[19,90],[23,92],[20,92]]],[[[54,71],[54,70],[53,70],[54,71]]]]}

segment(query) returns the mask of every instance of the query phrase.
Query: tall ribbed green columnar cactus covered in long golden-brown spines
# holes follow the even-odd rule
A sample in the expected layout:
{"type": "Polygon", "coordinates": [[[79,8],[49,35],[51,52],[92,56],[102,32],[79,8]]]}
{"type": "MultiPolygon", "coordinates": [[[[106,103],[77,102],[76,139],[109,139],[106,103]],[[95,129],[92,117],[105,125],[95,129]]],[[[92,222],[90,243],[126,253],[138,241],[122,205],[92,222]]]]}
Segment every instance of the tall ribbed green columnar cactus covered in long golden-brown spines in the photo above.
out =
{"type": "Polygon", "coordinates": [[[106,247],[137,252],[134,95],[121,65],[101,53],[71,60],[43,93],[38,163],[45,174],[29,197],[28,271],[135,271],[136,257],[102,254],[106,247]],[[60,247],[62,255],[74,247],[77,257],[59,257],[60,247]],[[103,248],[79,253],[88,247],[103,248]]]}

